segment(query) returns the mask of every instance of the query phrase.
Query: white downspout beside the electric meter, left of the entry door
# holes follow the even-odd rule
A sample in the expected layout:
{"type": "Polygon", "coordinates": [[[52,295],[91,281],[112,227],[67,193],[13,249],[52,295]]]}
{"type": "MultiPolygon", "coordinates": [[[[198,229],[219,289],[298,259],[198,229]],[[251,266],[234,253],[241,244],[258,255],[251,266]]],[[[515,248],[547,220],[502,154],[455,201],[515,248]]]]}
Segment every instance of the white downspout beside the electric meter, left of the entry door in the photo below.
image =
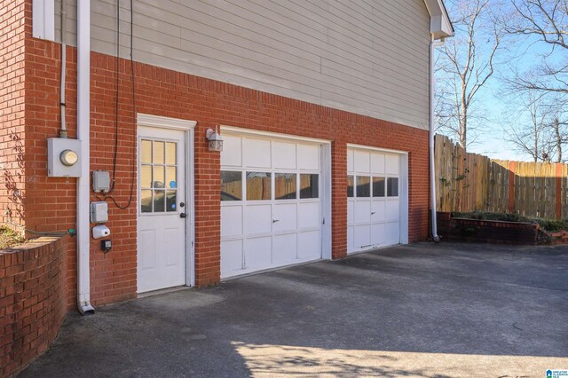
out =
{"type": "Polygon", "coordinates": [[[77,2],[77,139],[81,140],[81,177],[77,179],[77,307],[92,314],[89,239],[91,169],[91,0],[77,2]]]}

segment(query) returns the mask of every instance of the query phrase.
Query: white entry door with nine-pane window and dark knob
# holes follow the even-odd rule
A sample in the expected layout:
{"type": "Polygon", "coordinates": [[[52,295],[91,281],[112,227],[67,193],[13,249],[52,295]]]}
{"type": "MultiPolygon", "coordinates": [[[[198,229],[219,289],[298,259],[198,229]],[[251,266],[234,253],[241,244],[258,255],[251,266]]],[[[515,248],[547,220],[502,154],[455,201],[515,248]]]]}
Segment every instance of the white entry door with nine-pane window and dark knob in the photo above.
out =
{"type": "Polygon", "coordinates": [[[185,285],[185,132],[138,127],[138,293],[185,285]]]}

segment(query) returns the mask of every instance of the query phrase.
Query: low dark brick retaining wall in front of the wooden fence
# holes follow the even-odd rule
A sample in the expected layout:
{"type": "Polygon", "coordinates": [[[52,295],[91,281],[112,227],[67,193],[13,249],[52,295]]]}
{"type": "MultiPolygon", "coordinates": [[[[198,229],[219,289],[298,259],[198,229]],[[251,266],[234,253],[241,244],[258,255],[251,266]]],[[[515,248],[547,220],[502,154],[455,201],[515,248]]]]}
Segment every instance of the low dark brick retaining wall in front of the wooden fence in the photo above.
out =
{"type": "Polygon", "coordinates": [[[539,224],[454,218],[438,213],[438,235],[443,240],[477,243],[536,244],[539,224]]]}

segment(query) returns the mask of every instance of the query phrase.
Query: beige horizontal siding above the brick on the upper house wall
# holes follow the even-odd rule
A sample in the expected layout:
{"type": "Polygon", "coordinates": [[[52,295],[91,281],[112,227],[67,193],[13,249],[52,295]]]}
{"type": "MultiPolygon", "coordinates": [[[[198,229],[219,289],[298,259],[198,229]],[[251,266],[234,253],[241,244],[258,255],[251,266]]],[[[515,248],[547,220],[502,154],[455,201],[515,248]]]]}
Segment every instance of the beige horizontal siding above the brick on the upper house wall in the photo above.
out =
{"type": "MultiPolygon", "coordinates": [[[[70,44],[76,1],[67,0],[70,44]]],[[[116,54],[116,1],[91,0],[93,51],[116,54]]],[[[129,58],[130,2],[120,4],[129,58]]],[[[133,56],[427,129],[429,28],[422,0],[135,0],[133,56]]]]}

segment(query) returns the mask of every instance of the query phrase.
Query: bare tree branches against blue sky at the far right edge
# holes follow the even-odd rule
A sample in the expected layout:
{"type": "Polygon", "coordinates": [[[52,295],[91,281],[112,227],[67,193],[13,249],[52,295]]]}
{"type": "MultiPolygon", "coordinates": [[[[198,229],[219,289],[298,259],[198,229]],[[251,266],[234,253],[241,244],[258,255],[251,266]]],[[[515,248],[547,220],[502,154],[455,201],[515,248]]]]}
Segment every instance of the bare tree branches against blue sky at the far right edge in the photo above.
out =
{"type": "MultiPolygon", "coordinates": [[[[568,144],[568,0],[509,2],[509,12],[502,12],[499,22],[503,30],[517,43],[527,45],[527,51],[538,52],[533,53],[533,64],[527,64],[523,54],[518,61],[513,59],[509,64],[510,74],[505,78],[507,89],[521,96],[528,93],[534,103],[539,104],[542,116],[539,159],[564,162],[568,144]]],[[[525,122],[525,130],[521,124],[517,134],[509,134],[510,139],[517,142],[509,141],[517,147],[519,143],[527,143],[530,130],[534,130],[533,121],[530,128],[525,122]]]]}

